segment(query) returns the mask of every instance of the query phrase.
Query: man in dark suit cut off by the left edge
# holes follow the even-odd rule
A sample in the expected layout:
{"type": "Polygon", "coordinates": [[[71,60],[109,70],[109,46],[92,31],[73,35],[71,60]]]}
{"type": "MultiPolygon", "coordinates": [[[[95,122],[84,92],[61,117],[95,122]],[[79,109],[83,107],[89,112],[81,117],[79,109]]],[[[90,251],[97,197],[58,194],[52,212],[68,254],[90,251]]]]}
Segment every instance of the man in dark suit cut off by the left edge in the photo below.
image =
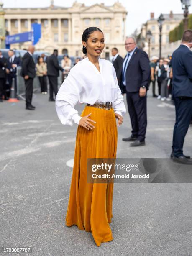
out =
{"type": "MultiPolygon", "coordinates": [[[[0,51],[0,102],[3,102],[2,96],[5,96],[5,77],[6,77],[7,60],[3,57],[0,51]]],[[[8,69],[7,69],[8,70],[8,69]]]]}

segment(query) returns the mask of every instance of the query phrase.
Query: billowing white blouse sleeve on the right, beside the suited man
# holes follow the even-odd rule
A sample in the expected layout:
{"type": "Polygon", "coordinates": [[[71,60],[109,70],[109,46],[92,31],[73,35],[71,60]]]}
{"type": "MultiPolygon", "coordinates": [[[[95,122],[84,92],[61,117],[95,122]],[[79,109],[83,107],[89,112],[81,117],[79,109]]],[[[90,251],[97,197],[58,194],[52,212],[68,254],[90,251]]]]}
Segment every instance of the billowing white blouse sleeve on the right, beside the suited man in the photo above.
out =
{"type": "Polygon", "coordinates": [[[121,94],[121,90],[120,90],[119,85],[118,85],[116,72],[115,72],[115,68],[113,67],[113,64],[112,64],[112,69],[113,69],[113,77],[114,77],[114,80],[115,80],[115,85],[116,85],[117,92],[118,92],[118,97],[113,102],[113,109],[114,109],[115,113],[123,116],[126,113],[126,108],[125,108],[125,104],[123,102],[123,95],[121,94]]]}

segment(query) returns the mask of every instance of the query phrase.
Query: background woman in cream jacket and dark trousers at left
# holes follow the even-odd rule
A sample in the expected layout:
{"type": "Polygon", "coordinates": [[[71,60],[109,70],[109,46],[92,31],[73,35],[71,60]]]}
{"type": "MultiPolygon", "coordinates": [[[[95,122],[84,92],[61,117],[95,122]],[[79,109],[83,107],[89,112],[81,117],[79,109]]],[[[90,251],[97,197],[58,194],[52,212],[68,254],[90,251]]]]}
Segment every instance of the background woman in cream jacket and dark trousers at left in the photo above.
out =
{"type": "Polygon", "coordinates": [[[38,76],[41,85],[41,93],[47,94],[47,64],[44,62],[43,57],[38,57],[36,64],[36,75],[38,76]]]}

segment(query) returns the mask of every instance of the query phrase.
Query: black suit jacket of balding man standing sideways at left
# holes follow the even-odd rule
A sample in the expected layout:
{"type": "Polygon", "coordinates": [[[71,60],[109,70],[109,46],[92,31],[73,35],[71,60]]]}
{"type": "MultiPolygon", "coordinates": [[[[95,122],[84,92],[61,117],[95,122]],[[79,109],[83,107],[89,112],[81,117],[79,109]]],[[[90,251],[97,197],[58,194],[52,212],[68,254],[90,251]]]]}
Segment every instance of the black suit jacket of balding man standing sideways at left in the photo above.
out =
{"type": "Polygon", "coordinates": [[[34,78],[36,76],[35,62],[33,61],[33,57],[28,52],[26,52],[26,54],[23,56],[20,75],[22,77],[28,75],[30,78],[34,78]]]}

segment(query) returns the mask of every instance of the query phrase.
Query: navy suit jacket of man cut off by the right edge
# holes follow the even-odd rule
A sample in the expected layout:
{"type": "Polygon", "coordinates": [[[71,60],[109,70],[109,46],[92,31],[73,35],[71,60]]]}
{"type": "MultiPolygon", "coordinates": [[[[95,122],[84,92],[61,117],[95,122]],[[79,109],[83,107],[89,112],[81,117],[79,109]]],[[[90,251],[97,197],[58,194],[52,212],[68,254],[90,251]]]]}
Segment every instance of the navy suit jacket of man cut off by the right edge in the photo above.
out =
{"type": "Polygon", "coordinates": [[[192,97],[192,51],[180,45],[172,54],[172,95],[192,97]]]}

